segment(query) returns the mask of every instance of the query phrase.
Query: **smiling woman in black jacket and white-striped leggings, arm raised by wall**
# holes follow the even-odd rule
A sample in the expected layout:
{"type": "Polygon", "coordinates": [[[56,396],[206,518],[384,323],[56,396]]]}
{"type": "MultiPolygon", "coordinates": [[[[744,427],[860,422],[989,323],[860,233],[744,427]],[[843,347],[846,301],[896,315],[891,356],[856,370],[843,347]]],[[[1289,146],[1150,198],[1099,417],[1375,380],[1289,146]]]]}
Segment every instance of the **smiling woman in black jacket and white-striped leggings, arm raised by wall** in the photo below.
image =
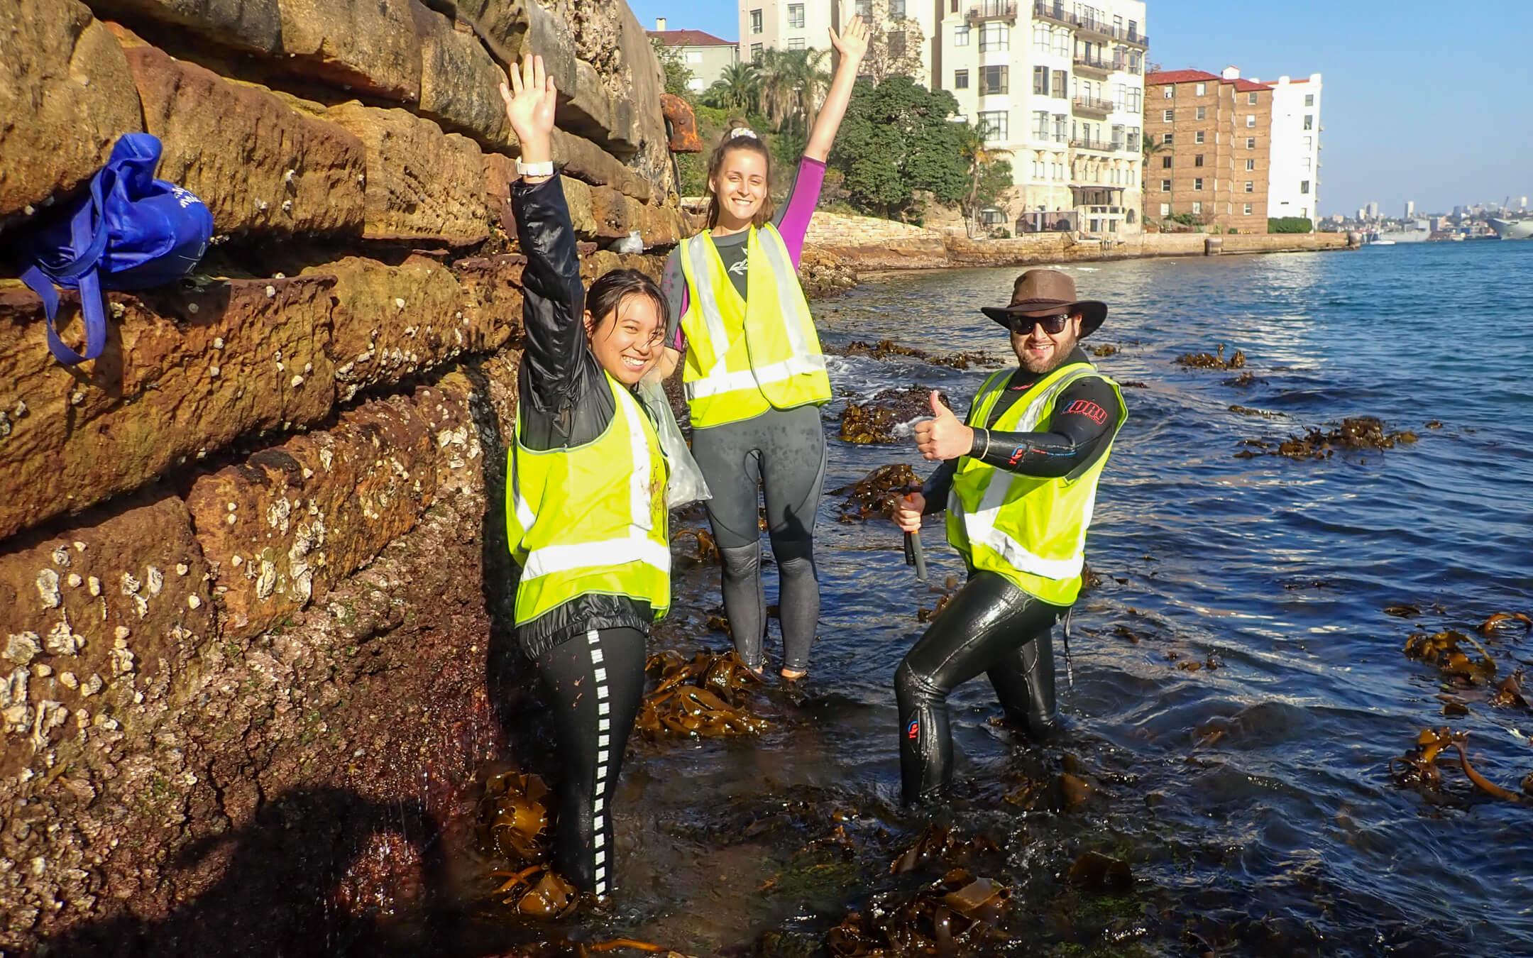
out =
{"type": "Polygon", "coordinates": [[[644,694],[644,642],[670,605],[665,457],[633,386],[665,331],[659,287],[613,270],[581,288],[552,162],[553,78],[524,58],[501,86],[521,139],[510,201],[527,256],[506,524],[521,575],[517,638],[553,699],[560,751],[553,866],[612,889],[612,809],[644,694]]]}

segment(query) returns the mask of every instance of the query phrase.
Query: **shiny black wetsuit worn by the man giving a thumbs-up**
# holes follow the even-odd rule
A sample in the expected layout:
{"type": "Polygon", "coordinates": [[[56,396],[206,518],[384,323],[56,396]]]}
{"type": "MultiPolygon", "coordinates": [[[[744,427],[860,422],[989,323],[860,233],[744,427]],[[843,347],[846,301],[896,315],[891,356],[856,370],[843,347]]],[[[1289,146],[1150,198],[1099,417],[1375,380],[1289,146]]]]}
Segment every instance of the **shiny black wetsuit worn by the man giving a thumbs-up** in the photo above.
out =
{"type": "MultiPolygon", "coordinates": [[[[1076,348],[1065,362],[1088,360],[1076,348]]],[[[1018,368],[989,422],[1001,418],[1041,379],[1018,368]]],[[[1021,475],[1079,474],[1107,452],[1118,418],[1113,388],[1099,377],[1084,377],[1059,392],[1049,432],[977,428],[969,455],[1021,475]]],[[[958,460],[947,460],[926,480],[921,492],[927,515],[947,507],[957,468],[958,460]]],[[[894,674],[906,802],[934,797],[952,780],[947,694],[980,673],[989,676],[1012,722],[1030,737],[1049,734],[1055,723],[1052,630],[1065,609],[1023,592],[993,572],[970,572],[894,674]]]]}

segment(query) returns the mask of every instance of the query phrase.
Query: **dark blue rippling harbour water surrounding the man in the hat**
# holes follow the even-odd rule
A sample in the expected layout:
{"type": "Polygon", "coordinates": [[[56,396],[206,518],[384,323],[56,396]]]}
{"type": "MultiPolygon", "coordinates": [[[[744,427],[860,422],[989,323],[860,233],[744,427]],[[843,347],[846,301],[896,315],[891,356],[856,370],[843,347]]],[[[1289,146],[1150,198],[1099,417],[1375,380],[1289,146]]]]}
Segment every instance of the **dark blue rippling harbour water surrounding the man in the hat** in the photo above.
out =
{"type": "MultiPolygon", "coordinates": [[[[1015,273],[885,276],[816,314],[831,346],[889,337],[1000,359],[1004,336],[977,305],[1004,302],[1015,273]]],[[[1533,612],[1533,242],[1072,273],[1082,296],[1111,307],[1087,342],[1119,351],[1098,362],[1144,383],[1125,391],[1130,422],[1087,549],[1104,581],[1076,607],[1073,687],[1061,656],[1064,733],[1047,746],[1018,742],[992,725],[986,682],[960,688],[957,796],[937,814],[1001,843],[986,874],[1013,886],[1009,950],[1533,952],[1533,806],[1487,800],[1456,766],[1444,779],[1461,802],[1433,805],[1386,768],[1421,728],[1450,723],[1472,733],[1470,756],[1492,780],[1516,789],[1533,771],[1533,714],[1472,704],[1449,720],[1435,670],[1401,655],[1412,632],[1533,612]],[[1173,362],[1217,343],[1243,349],[1259,382],[1237,388],[1225,385],[1231,372],[1173,362]],[[1242,415],[1236,403],[1279,415],[1242,415]],[[1323,461],[1234,457],[1243,438],[1349,415],[1420,441],[1323,461]],[[1381,612],[1400,602],[1424,612],[1381,612]],[[1222,667],[1173,661],[1210,656],[1222,667]],[[1004,800],[1065,760],[1099,786],[1084,806],[1004,800]],[[1070,891],[1061,875],[1087,849],[1128,860],[1133,891],[1070,891]]],[[[912,383],[969,397],[984,374],[832,360],[840,397],[912,383]]],[[[825,411],[828,489],[918,461],[914,446],[834,438],[843,403],[825,411]]],[[[931,817],[898,809],[891,682],[923,628],[917,607],[937,596],[904,567],[892,526],[837,523],[837,498],[820,512],[825,602],[806,688],[760,693],[774,727],[759,739],[632,748],[616,802],[616,912],[567,930],[688,953],[812,953],[871,894],[940,875],[889,875],[931,817]],[[849,848],[816,845],[835,829],[832,811],[849,848]]],[[[961,576],[940,526],[924,538],[934,582],[961,576]]],[[[716,579],[714,567],[681,575],[658,645],[698,645],[716,579]]],[[[768,648],[780,648],[776,635],[768,648]]],[[[1501,674],[1533,665],[1521,632],[1492,651],[1501,674]]],[[[524,932],[483,910],[463,943],[509,949],[524,932]]]]}

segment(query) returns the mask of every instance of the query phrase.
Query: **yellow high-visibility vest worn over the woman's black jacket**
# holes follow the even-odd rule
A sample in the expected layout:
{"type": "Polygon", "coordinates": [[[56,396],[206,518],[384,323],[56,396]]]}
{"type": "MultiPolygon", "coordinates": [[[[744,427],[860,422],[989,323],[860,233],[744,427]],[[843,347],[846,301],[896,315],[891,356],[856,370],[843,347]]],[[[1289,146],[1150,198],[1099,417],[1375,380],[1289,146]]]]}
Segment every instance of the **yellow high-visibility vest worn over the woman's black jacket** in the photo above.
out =
{"type": "Polygon", "coordinates": [[[506,529],[521,566],[515,618],[524,625],[586,593],[670,609],[668,468],[655,423],[612,376],[616,412],[595,440],[564,449],[509,452],[506,529]]]}

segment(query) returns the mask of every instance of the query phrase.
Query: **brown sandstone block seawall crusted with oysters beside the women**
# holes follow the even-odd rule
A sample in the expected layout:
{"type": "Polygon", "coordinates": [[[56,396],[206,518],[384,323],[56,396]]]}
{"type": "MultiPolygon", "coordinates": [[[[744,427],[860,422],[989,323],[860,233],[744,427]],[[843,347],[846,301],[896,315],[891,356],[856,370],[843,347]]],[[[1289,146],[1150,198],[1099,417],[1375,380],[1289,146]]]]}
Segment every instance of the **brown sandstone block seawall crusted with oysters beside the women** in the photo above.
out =
{"type": "Polygon", "coordinates": [[[320,909],[339,947],[504,753],[524,51],[586,270],[658,274],[690,221],[622,3],[0,11],[0,247],[132,130],[216,228],[193,282],[110,294],[74,369],[0,273],[6,953],[282,953],[320,909]]]}

